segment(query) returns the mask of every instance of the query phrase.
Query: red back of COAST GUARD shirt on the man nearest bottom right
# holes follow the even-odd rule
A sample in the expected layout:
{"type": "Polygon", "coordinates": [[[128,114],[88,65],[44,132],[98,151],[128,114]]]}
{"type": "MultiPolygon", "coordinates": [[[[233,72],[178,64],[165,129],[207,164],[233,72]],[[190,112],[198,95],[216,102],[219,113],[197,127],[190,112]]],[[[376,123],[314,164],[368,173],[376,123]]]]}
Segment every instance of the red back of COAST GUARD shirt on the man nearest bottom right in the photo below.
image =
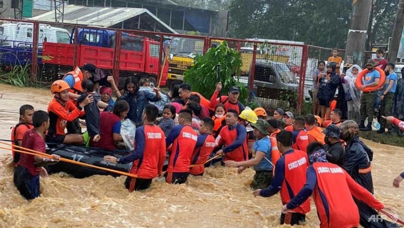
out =
{"type": "Polygon", "coordinates": [[[347,174],[338,165],[328,162],[316,162],[313,168],[317,185],[312,196],[320,227],[357,227],[359,211],[346,184],[347,174]],[[336,189],[338,196],[335,196],[336,189]]]}

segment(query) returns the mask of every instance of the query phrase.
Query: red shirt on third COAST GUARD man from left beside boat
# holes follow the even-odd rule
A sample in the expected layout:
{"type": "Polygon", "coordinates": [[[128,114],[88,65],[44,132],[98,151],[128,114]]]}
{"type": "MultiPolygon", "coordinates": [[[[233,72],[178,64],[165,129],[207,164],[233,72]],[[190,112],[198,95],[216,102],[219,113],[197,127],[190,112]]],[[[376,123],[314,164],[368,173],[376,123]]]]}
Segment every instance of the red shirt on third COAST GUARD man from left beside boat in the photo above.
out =
{"type": "MultiPolygon", "coordinates": [[[[203,135],[199,135],[198,138],[201,136],[203,135]]],[[[208,136],[206,136],[204,145],[199,148],[195,148],[195,150],[193,150],[191,165],[198,165],[198,166],[191,167],[189,169],[190,174],[200,175],[205,172],[205,166],[199,164],[204,164],[208,160],[209,155],[212,154],[213,149],[215,149],[215,147],[216,147],[215,138],[213,138],[212,134],[208,134],[208,136]]]]}

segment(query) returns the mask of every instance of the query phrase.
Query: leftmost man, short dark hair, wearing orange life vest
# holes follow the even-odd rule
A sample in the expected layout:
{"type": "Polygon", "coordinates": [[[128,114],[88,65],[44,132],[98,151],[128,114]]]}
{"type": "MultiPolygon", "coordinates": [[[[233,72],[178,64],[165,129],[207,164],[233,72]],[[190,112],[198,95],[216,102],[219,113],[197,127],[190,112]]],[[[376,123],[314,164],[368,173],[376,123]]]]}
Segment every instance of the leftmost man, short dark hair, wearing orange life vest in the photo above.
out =
{"type": "MultiPolygon", "coordinates": [[[[20,107],[20,120],[17,125],[11,129],[11,141],[13,145],[22,146],[22,138],[27,130],[34,128],[32,126],[32,115],[34,114],[34,107],[31,105],[23,105],[20,107]]],[[[14,152],[13,148],[13,162],[17,166],[21,154],[14,152]]]]}

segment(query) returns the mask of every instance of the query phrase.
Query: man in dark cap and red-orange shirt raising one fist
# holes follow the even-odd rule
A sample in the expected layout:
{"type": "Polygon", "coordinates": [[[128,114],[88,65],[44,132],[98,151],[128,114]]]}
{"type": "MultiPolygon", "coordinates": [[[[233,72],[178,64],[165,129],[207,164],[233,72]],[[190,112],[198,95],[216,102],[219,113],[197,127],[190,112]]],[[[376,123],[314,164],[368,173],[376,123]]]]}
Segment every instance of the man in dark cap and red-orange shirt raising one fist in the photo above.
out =
{"type": "Polygon", "coordinates": [[[216,85],[216,90],[211,97],[211,109],[215,109],[216,105],[222,103],[225,107],[225,111],[229,111],[230,109],[234,109],[240,114],[244,110],[244,105],[242,105],[238,101],[238,97],[240,96],[240,90],[237,86],[232,86],[229,90],[229,96],[221,96],[219,99],[219,92],[222,89],[222,82],[219,82],[216,85]]]}

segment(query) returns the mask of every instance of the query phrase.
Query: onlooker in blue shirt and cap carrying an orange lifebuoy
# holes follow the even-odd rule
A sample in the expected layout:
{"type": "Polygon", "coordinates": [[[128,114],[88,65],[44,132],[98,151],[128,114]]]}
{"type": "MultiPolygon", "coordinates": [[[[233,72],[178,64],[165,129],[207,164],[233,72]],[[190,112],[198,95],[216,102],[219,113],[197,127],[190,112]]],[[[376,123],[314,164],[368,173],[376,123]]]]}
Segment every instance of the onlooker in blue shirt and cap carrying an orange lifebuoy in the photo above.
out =
{"type": "MultiPolygon", "coordinates": [[[[380,82],[380,73],[375,69],[375,61],[369,60],[366,64],[366,68],[369,72],[364,76],[364,82],[361,86],[361,90],[366,87],[374,87],[377,86],[380,82]]],[[[372,130],[372,120],[374,113],[374,104],[375,104],[376,92],[363,92],[361,96],[361,130],[372,130]],[[368,125],[365,126],[365,120],[368,118],[368,125]]]]}

